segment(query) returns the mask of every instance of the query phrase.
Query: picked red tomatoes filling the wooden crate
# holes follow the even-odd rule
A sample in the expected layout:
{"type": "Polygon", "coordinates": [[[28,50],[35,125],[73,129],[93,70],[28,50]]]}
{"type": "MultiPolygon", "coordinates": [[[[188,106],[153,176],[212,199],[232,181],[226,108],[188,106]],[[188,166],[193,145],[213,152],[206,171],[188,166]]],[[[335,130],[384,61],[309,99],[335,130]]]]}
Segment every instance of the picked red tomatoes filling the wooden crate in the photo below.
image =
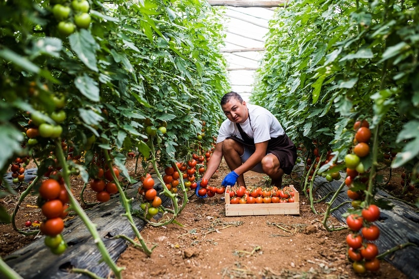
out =
{"type": "Polygon", "coordinates": [[[228,188],[226,193],[230,195],[231,204],[253,203],[286,203],[294,202],[294,189],[285,186],[278,189],[276,186],[262,189],[261,187],[246,188],[244,186],[228,188]]]}

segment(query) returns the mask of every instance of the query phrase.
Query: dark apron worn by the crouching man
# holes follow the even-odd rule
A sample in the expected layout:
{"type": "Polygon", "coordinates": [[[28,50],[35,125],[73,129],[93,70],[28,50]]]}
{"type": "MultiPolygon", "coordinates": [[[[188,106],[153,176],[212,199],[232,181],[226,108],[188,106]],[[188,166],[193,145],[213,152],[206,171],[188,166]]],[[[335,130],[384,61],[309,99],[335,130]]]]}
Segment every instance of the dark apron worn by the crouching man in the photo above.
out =
{"type": "MultiPolygon", "coordinates": [[[[249,114],[249,124],[251,127],[251,120],[250,120],[250,114],[249,114]]],[[[243,144],[246,144],[251,149],[253,149],[253,152],[255,150],[254,147],[254,139],[250,138],[241,128],[239,123],[236,123],[237,129],[239,129],[240,135],[242,136],[242,139],[231,136],[228,137],[230,139],[234,139],[238,142],[241,142],[243,144]]],[[[297,160],[297,148],[293,141],[284,133],[282,136],[279,136],[277,138],[271,138],[268,141],[268,147],[266,150],[266,154],[272,153],[274,154],[280,164],[280,168],[283,169],[283,171],[286,174],[291,174],[293,171],[295,162],[297,160]]]]}

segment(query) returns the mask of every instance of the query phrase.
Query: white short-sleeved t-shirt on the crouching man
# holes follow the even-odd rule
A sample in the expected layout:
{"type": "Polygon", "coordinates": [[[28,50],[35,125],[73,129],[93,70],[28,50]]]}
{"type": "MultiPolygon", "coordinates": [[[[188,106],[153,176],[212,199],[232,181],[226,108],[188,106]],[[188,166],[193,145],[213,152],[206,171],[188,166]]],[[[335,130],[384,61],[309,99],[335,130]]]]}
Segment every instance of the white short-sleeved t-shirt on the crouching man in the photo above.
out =
{"type": "MultiPolygon", "coordinates": [[[[278,119],[269,110],[257,105],[246,104],[246,106],[249,109],[250,121],[247,118],[244,123],[239,125],[244,133],[254,139],[254,143],[264,142],[285,134],[278,119]]],[[[225,138],[230,136],[237,136],[242,139],[236,123],[225,119],[218,130],[217,143],[224,141],[225,138]]]]}

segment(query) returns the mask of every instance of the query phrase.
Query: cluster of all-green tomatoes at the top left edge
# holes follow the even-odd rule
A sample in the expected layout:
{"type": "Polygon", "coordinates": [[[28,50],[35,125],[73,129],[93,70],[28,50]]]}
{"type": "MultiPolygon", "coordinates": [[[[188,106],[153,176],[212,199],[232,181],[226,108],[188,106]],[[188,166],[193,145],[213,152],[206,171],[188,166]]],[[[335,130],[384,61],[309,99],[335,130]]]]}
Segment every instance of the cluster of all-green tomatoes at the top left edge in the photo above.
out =
{"type": "Polygon", "coordinates": [[[88,28],[91,22],[89,12],[90,5],[87,0],[74,0],[69,3],[66,0],[54,0],[51,12],[58,22],[57,29],[62,36],[71,35],[76,27],[88,28]],[[70,15],[74,14],[71,18],[70,15]]]}

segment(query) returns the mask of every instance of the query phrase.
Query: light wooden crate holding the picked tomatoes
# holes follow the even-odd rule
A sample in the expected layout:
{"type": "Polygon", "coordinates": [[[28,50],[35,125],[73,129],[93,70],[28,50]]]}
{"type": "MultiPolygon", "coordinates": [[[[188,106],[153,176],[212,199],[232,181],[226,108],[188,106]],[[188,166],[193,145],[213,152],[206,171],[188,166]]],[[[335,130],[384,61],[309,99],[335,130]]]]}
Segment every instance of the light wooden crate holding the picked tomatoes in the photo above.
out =
{"type": "Polygon", "coordinates": [[[289,203],[254,203],[254,204],[230,204],[230,195],[225,192],[225,216],[248,216],[248,215],[300,215],[300,194],[295,190],[294,202],[289,203]]]}

